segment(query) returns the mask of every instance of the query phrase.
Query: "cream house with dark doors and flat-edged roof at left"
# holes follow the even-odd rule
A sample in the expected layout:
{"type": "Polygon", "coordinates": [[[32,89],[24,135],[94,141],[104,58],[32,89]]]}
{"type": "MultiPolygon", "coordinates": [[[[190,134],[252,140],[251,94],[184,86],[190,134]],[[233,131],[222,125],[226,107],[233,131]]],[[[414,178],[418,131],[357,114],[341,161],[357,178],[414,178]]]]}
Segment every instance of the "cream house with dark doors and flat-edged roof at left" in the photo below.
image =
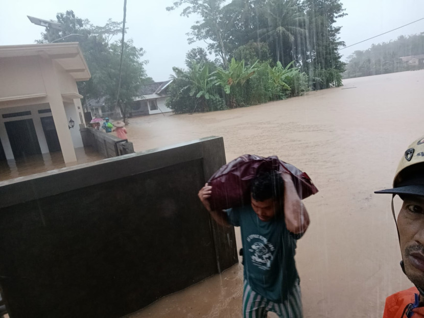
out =
{"type": "Polygon", "coordinates": [[[61,151],[76,162],[77,82],[91,77],[78,43],[0,46],[0,70],[0,161],[61,151]]]}

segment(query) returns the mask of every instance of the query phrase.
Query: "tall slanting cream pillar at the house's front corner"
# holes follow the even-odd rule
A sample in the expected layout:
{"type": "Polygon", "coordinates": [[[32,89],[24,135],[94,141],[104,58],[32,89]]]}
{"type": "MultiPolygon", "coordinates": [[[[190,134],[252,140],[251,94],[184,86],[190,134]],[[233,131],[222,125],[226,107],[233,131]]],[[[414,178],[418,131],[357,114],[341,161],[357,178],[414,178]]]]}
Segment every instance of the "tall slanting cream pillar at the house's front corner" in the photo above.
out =
{"type": "Polygon", "coordinates": [[[45,91],[48,95],[60,148],[62,149],[63,160],[65,163],[76,162],[77,156],[75,154],[74,144],[68,128],[69,119],[66,117],[55,66],[53,61],[48,58],[40,58],[40,64],[45,91]]]}

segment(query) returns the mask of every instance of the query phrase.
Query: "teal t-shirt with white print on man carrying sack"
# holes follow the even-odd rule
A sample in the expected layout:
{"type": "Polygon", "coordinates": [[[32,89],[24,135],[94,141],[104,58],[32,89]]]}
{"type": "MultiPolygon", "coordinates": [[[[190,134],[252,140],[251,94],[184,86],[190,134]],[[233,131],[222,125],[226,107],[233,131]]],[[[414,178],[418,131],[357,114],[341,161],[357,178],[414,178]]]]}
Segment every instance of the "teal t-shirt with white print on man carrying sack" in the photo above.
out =
{"type": "Polygon", "coordinates": [[[226,212],[229,223],[240,226],[244,279],[268,300],[287,300],[294,284],[299,283],[299,276],[294,260],[296,239],[287,230],[284,216],[263,222],[250,205],[226,212]]]}

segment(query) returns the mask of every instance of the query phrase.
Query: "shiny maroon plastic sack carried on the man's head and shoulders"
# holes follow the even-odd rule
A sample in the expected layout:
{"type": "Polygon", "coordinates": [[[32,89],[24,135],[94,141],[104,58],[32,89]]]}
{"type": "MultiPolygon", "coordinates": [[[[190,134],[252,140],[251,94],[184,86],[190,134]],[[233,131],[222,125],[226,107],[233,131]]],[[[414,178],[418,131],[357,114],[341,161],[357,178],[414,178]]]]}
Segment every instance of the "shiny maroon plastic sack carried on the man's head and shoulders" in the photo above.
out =
{"type": "Polygon", "coordinates": [[[250,204],[250,184],[258,170],[286,171],[292,180],[300,199],[318,192],[309,176],[294,165],[281,161],[277,156],[268,158],[243,155],[223,165],[207,183],[212,186],[209,198],[212,210],[223,210],[250,204]]]}

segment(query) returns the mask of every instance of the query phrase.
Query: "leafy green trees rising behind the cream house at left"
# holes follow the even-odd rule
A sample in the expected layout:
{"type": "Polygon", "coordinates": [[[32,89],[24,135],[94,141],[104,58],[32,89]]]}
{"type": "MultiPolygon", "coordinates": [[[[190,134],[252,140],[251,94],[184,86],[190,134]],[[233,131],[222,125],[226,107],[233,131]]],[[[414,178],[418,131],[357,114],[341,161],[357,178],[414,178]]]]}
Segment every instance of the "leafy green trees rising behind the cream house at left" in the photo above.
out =
{"type": "MultiPolygon", "coordinates": [[[[108,20],[105,26],[93,26],[87,19],[77,17],[72,10],[56,15],[57,22],[62,24],[62,30],[46,28],[38,43],[78,41],[81,51],[87,61],[91,79],[78,82],[78,90],[84,96],[83,103],[88,99],[106,97],[106,106],[114,109],[119,81],[119,65],[121,42],[113,41],[114,36],[122,32],[122,23],[108,20]],[[81,34],[82,36],[70,34],[81,34]]],[[[133,97],[139,94],[139,89],[146,83],[147,77],[141,60],[144,55],[142,48],[137,48],[131,40],[124,43],[121,90],[118,104],[124,117],[133,97]]],[[[151,80],[151,79],[150,79],[151,80]]],[[[147,80],[148,82],[148,80],[147,80]]]]}

